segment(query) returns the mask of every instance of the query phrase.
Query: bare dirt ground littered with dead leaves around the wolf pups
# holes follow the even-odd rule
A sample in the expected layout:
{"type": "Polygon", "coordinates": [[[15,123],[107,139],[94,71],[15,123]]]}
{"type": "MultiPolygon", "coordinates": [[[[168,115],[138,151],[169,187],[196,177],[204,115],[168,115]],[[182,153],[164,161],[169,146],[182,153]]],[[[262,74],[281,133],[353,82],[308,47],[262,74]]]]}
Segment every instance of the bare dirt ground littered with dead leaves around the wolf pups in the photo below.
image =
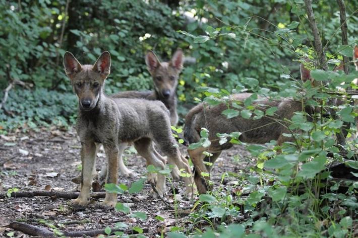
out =
{"type": "MultiPolygon", "coordinates": [[[[183,153],[186,154],[185,147],[183,153]]],[[[221,175],[224,172],[238,172],[245,168],[250,159],[249,153],[240,146],[224,151],[214,166],[212,180],[214,188],[225,186],[235,181],[224,180],[220,185],[221,175]],[[244,159],[246,158],[246,159],[244,159]]],[[[96,168],[100,170],[105,160],[105,154],[100,151],[97,155],[96,168]]],[[[135,171],[135,178],[120,176],[118,183],[128,187],[141,177],[146,176],[144,159],[127,149],[125,163],[128,168],[135,171]]],[[[73,129],[59,131],[55,128],[41,129],[38,132],[14,133],[0,137],[0,193],[8,189],[18,188],[19,191],[49,190],[70,191],[76,188],[71,179],[80,174],[80,142],[73,129]]],[[[190,210],[194,200],[186,200],[183,182],[174,182],[178,209],[190,210]]],[[[167,182],[166,201],[174,206],[173,191],[167,182]]],[[[140,211],[147,214],[146,220],[131,217],[114,209],[104,210],[98,204],[99,200],[92,200],[85,210],[73,211],[70,200],[52,199],[50,197],[32,198],[3,198],[0,199],[0,236],[7,237],[7,233],[14,231],[2,227],[11,221],[22,221],[28,224],[49,227],[54,225],[58,230],[90,230],[114,227],[116,222],[124,222],[127,230],[133,227],[143,229],[147,237],[160,237],[162,231],[170,227],[181,225],[190,226],[190,219],[186,215],[175,218],[174,210],[170,210],[159,199],[149,196],[150,185],[137,194],[118,195],[118,202],[128,203],[131,213],[140,211]],[[164,220],[155,217],[161,216],[164,220]],[[41,222],[42,219],[42,222],[41,222]],[[44,223],[43,220],[46,222],[44,223]]],[[[189,227],[188,226],[188,227],[189,227]]],[[[21,232],[14,231],[14,237],[29,237],[21,232]]]]}

